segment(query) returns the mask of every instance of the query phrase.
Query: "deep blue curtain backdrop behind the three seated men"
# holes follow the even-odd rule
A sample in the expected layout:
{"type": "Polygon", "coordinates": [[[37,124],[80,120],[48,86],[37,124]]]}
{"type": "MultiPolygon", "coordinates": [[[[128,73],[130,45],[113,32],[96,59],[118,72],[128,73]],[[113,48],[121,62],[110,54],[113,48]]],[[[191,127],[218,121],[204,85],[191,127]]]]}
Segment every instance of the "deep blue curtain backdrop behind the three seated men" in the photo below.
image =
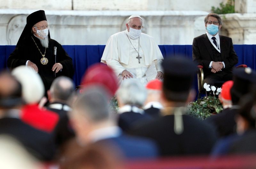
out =
{"type": "MultiPolygon", "coordinates": [[[[7,59],[14,48],[15,46],[0,46],[0,71],[7,68],[7,59]]],[[[63,45],[63,48],[73,59],[75,68],[73,79],[75,84],[79,85],[85,70],[90,65],[100,62],[105,45],[63,45]]],[[[159,45],[159,48],[164,58],[179,55],[192,60],[192,45],[159,45]]],[[[248,67],[255,70],[256,45],[234,45],[234,48],[238,55],[237,65],[246,64],[248,67]]]]}

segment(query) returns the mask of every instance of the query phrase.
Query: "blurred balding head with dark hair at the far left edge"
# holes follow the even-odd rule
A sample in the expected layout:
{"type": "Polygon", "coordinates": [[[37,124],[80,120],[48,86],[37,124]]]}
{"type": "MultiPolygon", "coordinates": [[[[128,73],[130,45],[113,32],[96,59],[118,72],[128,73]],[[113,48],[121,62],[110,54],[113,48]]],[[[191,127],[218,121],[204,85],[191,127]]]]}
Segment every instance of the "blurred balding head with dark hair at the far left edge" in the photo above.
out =
{"type": "Polygon", "coordinates": [[[0,73],[0,107],[12,108],[21,104],[21,85],[8,72],[0,73]]]}

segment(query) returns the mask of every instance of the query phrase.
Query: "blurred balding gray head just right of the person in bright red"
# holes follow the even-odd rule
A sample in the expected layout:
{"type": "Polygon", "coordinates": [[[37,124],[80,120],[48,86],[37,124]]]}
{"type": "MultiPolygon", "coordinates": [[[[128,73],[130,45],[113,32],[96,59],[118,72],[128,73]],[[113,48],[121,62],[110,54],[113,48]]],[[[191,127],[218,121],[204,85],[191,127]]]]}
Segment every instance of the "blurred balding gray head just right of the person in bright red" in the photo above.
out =
{"type": "Polygon", "coordinates": [[[68,101],[75,91],[75,84],[69,77],[57,77],[51,85],[50,92],[52,98],[68,101]]]}

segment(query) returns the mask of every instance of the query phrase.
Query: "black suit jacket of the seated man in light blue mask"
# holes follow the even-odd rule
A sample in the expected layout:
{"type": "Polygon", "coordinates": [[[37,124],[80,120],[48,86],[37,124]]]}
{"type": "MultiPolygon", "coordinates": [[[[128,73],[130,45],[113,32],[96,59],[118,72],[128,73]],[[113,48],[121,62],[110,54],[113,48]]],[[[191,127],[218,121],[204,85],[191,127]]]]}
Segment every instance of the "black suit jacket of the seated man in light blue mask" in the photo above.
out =
{"type": "MultiPolygon", "coordinates": [[[[193,61],[197,62],[198,65],[204,66],[204,76],[212,73],[211,69],[209,69],[210,62],[213,61],[211,46],[212,43],[206,33],[193,40],[193,61]]],[[[225,68],[222,71],[232,72],[232,68],[238,63],[238,57],[233,48],[231,38],[220,35],[220,54],[221,62],[225,63],[225,68]]]]}

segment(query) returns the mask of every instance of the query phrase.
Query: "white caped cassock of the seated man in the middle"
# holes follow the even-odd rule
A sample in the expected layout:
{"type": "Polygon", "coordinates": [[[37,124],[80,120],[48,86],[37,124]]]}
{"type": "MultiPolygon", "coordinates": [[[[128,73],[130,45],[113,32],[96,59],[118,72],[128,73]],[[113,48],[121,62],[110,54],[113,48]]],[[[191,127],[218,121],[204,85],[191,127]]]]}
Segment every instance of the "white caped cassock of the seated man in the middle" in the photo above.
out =
{"type": "Polygon", "coordinates": [[[156,70],[163,72],[161,68],[161,62],[164,59],[163,55],[153,37],[145,33],[140,34],[140,63],[136,58],[138,53],[132,45],[139,51],[139,38],[136,40],[130,38],[127,29],[113,34],[108,39],[101,62],[113,68],[116,76],[120,77],[120,79],[122,79],[121,73],[124,70],[128,70],[132,73],[133,78],[140,78],[142,84],[147,84],[145,73],[153,62],[155,62],[156,70]]]}

